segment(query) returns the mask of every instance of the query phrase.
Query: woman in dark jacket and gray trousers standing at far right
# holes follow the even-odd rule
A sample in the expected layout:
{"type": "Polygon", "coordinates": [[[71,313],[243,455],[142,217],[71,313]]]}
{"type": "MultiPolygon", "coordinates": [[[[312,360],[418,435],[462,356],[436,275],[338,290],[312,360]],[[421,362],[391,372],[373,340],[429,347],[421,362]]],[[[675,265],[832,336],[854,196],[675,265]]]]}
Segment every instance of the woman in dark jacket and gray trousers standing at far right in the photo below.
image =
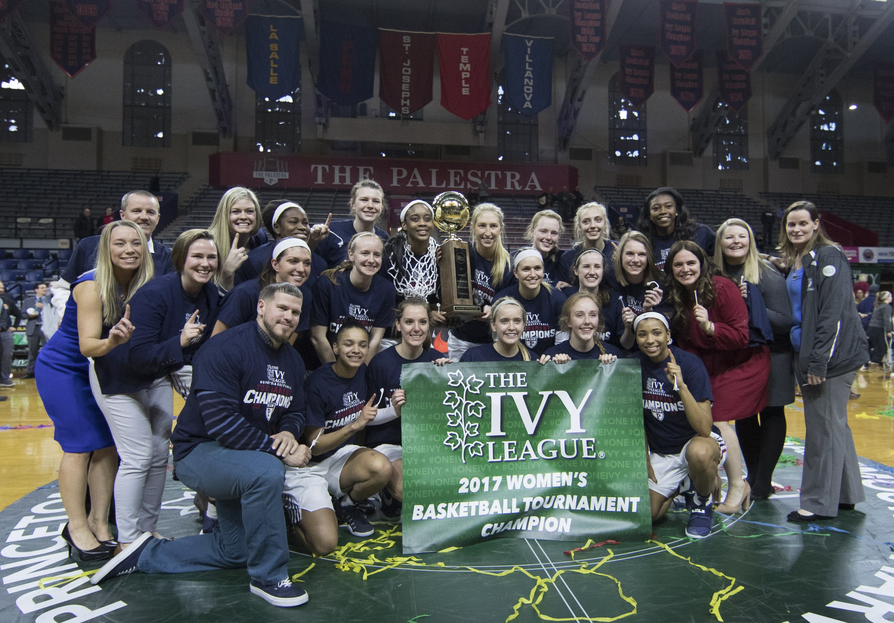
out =
{"type": "Polygon", "coordinates": [[[848,399],[869,348],[854,305],[848,257],[826,236],[816,206],[809,201],[789,206],[779,240],[789,270],[791,345],[806,430],[801,508],[789,513],[789,521],[813,522],[865,500],[848,399]]]}

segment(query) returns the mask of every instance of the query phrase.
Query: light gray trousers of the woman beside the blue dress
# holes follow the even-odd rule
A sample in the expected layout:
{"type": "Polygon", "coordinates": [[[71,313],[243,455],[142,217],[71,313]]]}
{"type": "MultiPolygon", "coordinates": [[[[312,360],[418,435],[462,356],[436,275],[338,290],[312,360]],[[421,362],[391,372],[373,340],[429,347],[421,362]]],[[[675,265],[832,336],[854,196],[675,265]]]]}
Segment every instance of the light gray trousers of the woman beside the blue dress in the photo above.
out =
{"type": "Polygon", "coordinates": [[[104,394],[91,362],[90,389],[121,457],[114,479],[118,540],[133,543],[158,523],[173,422],[171,382],[164,377],[136,393],[104,394]]]}

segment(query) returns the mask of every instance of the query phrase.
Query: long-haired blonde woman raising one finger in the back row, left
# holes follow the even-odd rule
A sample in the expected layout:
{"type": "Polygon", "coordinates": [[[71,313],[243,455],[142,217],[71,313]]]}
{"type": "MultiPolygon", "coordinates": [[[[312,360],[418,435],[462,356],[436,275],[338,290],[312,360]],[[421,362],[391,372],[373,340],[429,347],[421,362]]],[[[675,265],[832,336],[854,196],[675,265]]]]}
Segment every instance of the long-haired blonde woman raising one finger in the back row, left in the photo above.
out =
{"type": "Polygon", "coordinates": [[[249,251],[263,242],[256,238],[261,229],[260,211],[254,191],[241,186],[227,190],[217,202],[208,231],[215,238],[217,257],[223,258],[215,275],[223,291],[232,290],[236,271],[249,258],[249,251]]]}

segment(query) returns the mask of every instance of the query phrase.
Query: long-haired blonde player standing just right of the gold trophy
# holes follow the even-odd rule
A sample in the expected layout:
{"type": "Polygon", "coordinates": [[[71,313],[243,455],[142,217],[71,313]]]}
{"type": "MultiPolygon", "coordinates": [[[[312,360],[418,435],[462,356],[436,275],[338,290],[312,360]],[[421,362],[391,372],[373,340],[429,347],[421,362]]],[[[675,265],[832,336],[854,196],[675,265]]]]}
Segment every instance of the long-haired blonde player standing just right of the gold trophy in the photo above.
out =
{"type": "Polygon", "coordinates": [[[488,320],[493,295],[515,281],[509,252],[503,246],[504,232],[502,209],[492,203],[478,204],[468,232],[468,259],[472,300],[485,314],[451,330],[447,347],[453,361],[459,361],[468,349],[492,341],[488,320]]]}

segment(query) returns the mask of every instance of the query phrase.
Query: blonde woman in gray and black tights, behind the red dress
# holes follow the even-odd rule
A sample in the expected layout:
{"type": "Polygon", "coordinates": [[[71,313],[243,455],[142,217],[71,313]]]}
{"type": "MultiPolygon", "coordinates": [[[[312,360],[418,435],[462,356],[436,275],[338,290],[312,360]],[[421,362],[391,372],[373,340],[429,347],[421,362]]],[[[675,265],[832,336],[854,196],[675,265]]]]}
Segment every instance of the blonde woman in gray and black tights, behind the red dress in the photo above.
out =
{"type": "MultiPolygon", "coordinates": [[[[791,302],[785,277],[766,260],[761,259],[755,245],[755,233],[745,221],[730,218],[717,230],[714,245],[714,264],[738,285],[744,299],[748,299],[748,284],[756,287],[763,299],[773,343],[770,346],[770,383],[767,406],[755,414],[736,422],[736,434],[745,456],[751,497],[765,500],[774,493],[773,468],[785,444],[785,406],[795,401],[795,375],[791,369],[792,349],[791,302]]],[[[755,301],[749,301],[755,304],[755,301]]],[[[721,509],[725,512],[726,509],[721,509]]]]}

